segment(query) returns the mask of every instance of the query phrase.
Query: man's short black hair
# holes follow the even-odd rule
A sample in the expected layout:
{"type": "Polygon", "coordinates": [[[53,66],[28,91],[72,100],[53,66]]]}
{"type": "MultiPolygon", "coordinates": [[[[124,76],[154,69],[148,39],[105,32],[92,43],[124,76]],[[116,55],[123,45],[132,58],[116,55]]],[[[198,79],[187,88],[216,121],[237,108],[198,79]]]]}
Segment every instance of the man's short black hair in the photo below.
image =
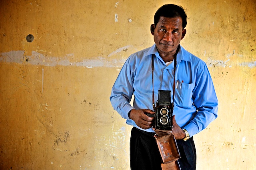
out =
{"type": "Polygon", "coordinates": [[[174,18],[181,17],[182,18],[182,28],[185,28],[187,25],[187,14],[182,8],[182,6],[174,5],[174,4],[166,4],[161,6],[154,16],[154,24],[156,25],[159,22],[161,16],[174,18]]]}

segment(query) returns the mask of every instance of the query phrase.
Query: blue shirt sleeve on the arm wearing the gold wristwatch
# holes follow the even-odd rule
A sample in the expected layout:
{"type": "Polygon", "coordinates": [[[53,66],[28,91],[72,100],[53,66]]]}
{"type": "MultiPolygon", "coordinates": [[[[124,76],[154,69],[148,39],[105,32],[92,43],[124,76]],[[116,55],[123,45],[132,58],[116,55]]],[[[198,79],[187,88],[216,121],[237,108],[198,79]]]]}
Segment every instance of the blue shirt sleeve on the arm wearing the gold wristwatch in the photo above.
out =
{"type": "Polygon", "coordinates": [[[190,137],[206,128],[218,116],[218,99],[205,63],[196,75],[193,97],[197,113],[194,119],[184,127],[188,130],[190,137]]]}

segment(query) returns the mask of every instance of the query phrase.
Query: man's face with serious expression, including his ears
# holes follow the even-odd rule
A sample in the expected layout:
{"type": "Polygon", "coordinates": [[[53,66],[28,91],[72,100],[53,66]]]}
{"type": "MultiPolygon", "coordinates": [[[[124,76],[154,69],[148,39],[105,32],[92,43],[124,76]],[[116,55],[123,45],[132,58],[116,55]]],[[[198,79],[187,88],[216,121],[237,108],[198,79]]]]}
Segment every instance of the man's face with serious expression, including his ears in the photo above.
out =
{"type": "Polygon", "coordinates": [[[186,30],[182,28],[181,17],[167,18],[161,16],[156,25],[151,25],[151,34],[154,36],[156,47],[162,57],[162,55],[174,55],[176,53],[186,30]]]}

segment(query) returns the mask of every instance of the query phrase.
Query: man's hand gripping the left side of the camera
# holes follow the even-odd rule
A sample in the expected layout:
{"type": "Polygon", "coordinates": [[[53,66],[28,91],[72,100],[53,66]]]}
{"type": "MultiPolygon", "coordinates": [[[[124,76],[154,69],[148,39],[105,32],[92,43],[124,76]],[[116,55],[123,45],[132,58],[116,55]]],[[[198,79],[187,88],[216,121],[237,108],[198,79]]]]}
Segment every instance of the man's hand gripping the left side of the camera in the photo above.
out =
{"type": "Polygon", "coordinates": [[[147,113],[154,115],[154,111],[149,109],[132,109],[130,112],[130,119],[132,119],[138,127],[148,129],[152,127],[154,123],[153,117],[148,117],[147,113]]]}

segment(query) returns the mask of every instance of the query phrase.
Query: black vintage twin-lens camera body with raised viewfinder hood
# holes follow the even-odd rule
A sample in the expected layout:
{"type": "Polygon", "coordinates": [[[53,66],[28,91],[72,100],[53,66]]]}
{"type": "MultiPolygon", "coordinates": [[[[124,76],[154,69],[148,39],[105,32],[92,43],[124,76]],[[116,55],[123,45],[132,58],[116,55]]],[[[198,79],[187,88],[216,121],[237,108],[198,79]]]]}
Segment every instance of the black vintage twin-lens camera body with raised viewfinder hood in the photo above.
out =
{"type": "Polygon", "coordinates": [[[160,130],[172,129],[172,111],[173,104],[171,103],[172,91],[159,90],[158,101],[155,109],[154,128],[160,130]]]}

